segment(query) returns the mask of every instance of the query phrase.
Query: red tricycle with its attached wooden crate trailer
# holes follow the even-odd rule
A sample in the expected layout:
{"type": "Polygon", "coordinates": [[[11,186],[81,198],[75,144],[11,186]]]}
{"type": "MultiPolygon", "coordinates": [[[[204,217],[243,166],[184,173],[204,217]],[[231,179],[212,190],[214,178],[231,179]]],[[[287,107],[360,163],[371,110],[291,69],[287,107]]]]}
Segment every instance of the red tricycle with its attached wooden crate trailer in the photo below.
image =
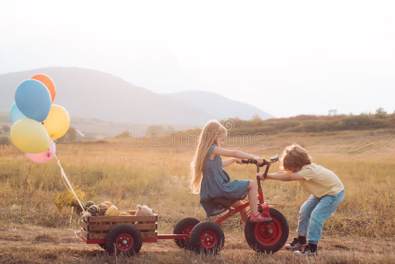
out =
{"type": "MultiPolygon", "coordinates": [[[[272,163],[278,161],[278,155],[263,160],[256,165],[256,160],[243,160],[245,164],[255,164],[257,172],[266,166],[264,177],[272,163]]],[[[269,220],[263,222],[246,222],[245,240],[257,252],[272,254],[278,251],[288,239],[288,222],[276,209],[264,202],[261,180],[258,182],[258,211],[269,220]],[[271,220],[270,220],[271,219],[271,220]]],[[[220,203],[220,201],[218,201],[220,203]]],[[[157,242],[158,239],[174,239],[180,248],[193,250],[202,254],[217,254],[225,243],[224,231],[220,223],[234,216],[249,206],[249,202],[232,209],[216,221],[200,221],[185,217],[174,226],[173,234],[157,233],[158,216],[136,216],[135,211],[125,211],[126,216],[87,216],[81,221],[81,239],[87,244],[99,244],[110,253],[134,255],[141,249],[142,243],[157,242]]],[[[249,217],[249,211],[240,219],[240,223],[249,217]]]]}

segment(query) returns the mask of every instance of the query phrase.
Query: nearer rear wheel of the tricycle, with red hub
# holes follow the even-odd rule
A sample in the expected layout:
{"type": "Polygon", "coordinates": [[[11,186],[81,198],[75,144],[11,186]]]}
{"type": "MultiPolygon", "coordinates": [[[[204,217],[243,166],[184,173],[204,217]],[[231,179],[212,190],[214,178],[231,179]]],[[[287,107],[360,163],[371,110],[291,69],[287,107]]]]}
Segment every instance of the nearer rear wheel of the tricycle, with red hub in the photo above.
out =
{"type": "Polygon", "coordinates": [[[224,246],[225,234],[219,224],[204,221],[195,225],[191,231],[189,241],[192,250],[207,255],[215,255],[224,246]]]}

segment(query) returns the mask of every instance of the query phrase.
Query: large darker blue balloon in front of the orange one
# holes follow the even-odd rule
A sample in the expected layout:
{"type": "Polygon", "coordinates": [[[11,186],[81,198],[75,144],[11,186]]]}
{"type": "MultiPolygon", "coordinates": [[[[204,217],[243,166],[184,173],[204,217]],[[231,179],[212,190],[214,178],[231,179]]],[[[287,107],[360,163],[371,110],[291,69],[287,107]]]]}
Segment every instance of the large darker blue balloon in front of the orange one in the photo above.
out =
{"type": "Polygon", "coordinates": [[[41,122],[51,109],[51,94],[43,83],[29,79],[16,88],[15,103],[27,118],[41,122]]]}

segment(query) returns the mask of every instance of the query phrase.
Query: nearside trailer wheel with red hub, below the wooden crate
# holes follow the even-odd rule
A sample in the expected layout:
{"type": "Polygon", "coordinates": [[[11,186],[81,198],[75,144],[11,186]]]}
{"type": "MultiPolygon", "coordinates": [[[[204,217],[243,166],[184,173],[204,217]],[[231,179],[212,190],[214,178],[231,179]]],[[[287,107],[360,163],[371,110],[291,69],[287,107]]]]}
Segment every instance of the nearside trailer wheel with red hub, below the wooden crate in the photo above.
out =
{"type": "Polygon", "coordinates": [[[121,223],[108,232],[105,249],[111,254],[134,255],[139,253],[142,244],[140,230],[128,223],[121,223]]]}

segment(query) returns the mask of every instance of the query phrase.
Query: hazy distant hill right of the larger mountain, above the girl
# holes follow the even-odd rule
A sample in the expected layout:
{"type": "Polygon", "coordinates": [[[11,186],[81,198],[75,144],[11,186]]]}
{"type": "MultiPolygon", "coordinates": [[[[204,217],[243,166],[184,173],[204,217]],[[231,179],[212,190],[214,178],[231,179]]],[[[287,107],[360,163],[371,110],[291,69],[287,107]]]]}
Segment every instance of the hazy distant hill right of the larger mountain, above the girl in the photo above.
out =
{"type": "Polygon", "coordinates": [[[254,115],[261,119],[274,118],[271,114],[247,103],[228,99],[222,95],[207,91],[181,91],[165,93],[169,98],[174,98],[188,103],[207,114],[214,115],[216,119],[234,118],[248,120],[254,115]]]}

